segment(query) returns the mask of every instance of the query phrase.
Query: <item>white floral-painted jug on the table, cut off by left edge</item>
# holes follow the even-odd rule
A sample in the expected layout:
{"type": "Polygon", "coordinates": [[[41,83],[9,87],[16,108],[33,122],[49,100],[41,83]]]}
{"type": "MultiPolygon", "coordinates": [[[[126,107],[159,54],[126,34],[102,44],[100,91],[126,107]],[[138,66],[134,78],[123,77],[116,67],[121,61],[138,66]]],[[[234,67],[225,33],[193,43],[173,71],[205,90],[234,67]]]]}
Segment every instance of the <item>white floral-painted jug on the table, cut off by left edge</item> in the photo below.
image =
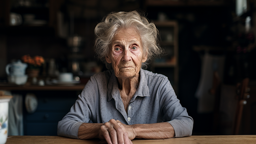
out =
{"type": "Polygon", "coordinates": [[[8,135],[8,108],[12,96],[0,96],[0,144],[5,144],[8,135]]]}

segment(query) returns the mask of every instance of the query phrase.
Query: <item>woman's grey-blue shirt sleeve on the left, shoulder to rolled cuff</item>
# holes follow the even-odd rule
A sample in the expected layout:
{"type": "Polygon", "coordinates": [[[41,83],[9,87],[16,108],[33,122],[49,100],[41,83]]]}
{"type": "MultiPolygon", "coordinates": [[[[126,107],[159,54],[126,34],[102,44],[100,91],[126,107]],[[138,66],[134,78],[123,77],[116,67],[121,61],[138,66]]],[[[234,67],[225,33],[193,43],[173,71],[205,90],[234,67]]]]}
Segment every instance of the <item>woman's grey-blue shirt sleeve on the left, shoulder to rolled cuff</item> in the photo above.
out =
{"type": "Polygon", "coordinates": [[[78,95],[75,104],[70,111],[58,123],[57,134],[69,138],[78,139],[77,133],[81,124],[89,123],[92,119],[97,97],[97,83],[94,76],[87,82],[82,93],[78,95]]]}

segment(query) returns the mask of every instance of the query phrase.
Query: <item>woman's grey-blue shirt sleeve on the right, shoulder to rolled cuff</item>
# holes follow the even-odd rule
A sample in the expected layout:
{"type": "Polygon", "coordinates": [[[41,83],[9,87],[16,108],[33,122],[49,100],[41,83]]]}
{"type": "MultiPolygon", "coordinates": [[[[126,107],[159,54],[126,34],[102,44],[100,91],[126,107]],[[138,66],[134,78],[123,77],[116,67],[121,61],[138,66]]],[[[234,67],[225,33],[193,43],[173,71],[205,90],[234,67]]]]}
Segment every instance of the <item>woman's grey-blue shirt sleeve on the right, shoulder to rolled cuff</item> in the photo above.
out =
{"type": "Polygon", "coordinates": [[[181,106],[168,78],[162,81],[159,96],[163,121],[172,125],[175,137],[191,136],[194,121],[188,116],[187,109],[181,106]]]}

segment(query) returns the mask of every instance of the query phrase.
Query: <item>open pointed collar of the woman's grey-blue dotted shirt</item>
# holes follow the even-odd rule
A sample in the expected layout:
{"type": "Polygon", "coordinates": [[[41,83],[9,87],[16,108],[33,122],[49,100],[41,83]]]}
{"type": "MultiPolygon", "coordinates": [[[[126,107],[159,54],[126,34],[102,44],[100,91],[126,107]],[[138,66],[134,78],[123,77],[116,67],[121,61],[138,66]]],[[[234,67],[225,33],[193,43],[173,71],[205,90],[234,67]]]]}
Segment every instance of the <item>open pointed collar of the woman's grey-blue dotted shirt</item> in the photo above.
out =
{"type": "MultiPolygon", "coordinates": [[[[108,101],[110,101],[112,98],[114,99],[119,98],[119,95],[120,95],[115,72],[114,70],[111,70],[111,72],[112,74],[108,82],[108,101]]],[[[137,91],[132,97],[131,102],[134,101],[137,96],[149,97],[148,81],[147,81],[147,77],[145,75],[144,69],[140,69],[140,83],[138,85],[137,91]]]]}

